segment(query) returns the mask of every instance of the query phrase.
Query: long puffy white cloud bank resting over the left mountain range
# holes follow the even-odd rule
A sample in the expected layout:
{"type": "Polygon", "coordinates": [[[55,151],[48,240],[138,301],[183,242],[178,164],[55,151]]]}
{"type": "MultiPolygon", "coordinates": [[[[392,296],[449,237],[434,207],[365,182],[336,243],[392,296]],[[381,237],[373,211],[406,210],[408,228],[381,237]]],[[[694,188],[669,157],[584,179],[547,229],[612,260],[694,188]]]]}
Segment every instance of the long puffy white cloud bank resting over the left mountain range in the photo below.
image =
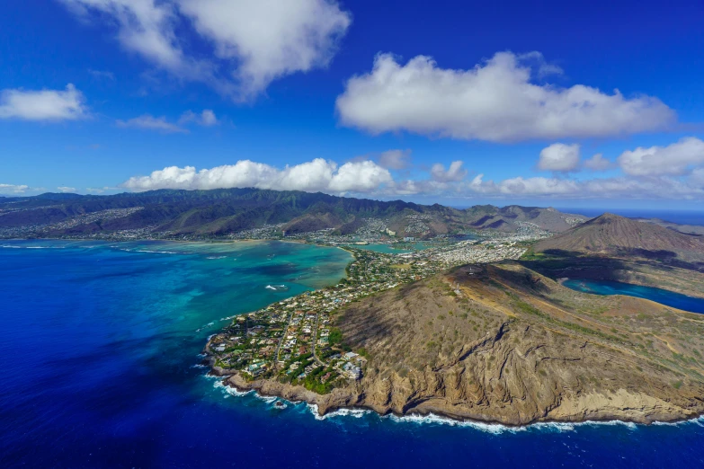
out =
{"type": "Polygon", "coordinates": [[[338,166],[334,162],[316,158],[283,169],[250,160],[201,171],[192,166],[171,166],[148,176],[132,177],[122,186],[130,190],[252,187],[308,192],[369,193],[392,182],[388,170],[371,161],[349,162],[338,166]]]}

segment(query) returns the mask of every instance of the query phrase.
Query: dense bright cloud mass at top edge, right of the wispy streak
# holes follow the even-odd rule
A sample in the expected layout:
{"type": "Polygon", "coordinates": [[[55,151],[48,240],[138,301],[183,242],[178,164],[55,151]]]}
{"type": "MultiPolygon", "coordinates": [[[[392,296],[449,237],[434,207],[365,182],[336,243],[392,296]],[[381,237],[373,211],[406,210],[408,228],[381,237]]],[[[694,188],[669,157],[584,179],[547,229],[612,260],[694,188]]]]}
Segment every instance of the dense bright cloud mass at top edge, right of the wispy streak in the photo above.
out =
{"type": "Polygon", "coordinates": [[[179,0],[218,58],[234,59],[245,96],[274,79],[326,66],[352,22],[328,0],[179,0]]]}

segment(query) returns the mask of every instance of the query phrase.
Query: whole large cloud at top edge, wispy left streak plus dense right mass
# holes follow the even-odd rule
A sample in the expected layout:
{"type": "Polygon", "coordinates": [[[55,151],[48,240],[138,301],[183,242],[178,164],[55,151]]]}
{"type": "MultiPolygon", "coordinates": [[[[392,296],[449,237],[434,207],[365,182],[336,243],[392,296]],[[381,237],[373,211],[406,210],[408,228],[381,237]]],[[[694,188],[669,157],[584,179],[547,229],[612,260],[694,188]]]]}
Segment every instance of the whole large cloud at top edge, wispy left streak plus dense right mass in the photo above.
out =
{"type": "Polygon", "coordinates": [[[250,99],[275,79],[326,66],[352,22],[335,0],[62,0],[117,26],[123,48],[185,80],[250,99]],[[183,27],[211,47],[187,50],[183,27]]]}

